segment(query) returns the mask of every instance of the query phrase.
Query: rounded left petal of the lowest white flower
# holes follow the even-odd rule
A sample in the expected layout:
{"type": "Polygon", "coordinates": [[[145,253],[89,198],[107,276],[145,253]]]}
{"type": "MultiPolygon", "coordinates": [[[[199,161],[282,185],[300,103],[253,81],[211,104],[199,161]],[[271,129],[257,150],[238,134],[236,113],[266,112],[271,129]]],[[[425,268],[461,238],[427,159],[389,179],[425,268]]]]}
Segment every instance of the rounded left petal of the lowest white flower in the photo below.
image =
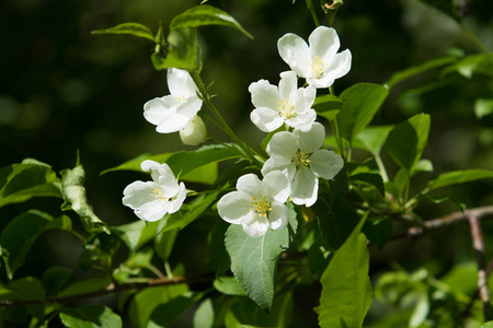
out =
{"type": "Polygon", "coordinates": [[[219,216],[226,222],[232,224],[240,224],[242,221],[248,221],[252,216],[250,209],[250,196],[239,191],[231,191],[219,199],[217,203],[217,211],[219,216]]]}

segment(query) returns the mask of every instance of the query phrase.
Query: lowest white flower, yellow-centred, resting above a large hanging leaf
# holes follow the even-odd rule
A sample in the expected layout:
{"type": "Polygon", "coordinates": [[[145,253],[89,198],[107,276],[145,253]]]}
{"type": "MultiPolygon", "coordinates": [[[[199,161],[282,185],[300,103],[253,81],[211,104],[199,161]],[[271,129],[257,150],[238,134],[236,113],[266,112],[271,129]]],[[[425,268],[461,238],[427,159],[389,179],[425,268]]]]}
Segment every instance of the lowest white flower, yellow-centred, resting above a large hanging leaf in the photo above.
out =
{"type": "Polygon", "coordinates": [[[264,235],[268,227],[284,229],[289,210],[285,202],[289,196],[289,184],[280,172],[265,175],[263,180],[254,174],[241,176],[237,190],[219,199],[217,210],[226,222],[241,224],[251,237],[264,235]]]}

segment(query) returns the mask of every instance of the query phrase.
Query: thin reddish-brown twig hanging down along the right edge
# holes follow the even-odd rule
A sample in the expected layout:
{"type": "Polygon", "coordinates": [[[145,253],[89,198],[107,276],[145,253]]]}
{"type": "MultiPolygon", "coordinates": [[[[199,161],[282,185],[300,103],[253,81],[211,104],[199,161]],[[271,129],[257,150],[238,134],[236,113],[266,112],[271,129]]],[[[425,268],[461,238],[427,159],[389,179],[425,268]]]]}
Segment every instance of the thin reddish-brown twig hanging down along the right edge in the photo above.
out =
{"type": "Polygon", "coordinates": [[[481,219],[477,215],[469,216],[472,246],[478,261],[478,291],[483,305],[484,321],[490,320],[490,290],[488,288],[486,260],[484,257],[484,241],[481,232],[481,219]]]}

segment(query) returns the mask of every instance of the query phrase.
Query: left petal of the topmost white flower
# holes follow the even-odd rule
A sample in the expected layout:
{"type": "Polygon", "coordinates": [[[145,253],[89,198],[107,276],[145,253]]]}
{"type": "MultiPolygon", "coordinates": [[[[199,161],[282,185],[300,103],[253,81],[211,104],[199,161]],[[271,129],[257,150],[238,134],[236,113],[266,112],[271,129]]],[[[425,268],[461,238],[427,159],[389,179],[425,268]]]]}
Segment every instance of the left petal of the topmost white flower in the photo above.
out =
{"type": "Polygon", "coordinates": [[[307,78],[311,74],[311,69],[308,66],[308,45],[296,34],[288,33],[277,42],[277,49],[280,58],[299,77],[307,78]]]}

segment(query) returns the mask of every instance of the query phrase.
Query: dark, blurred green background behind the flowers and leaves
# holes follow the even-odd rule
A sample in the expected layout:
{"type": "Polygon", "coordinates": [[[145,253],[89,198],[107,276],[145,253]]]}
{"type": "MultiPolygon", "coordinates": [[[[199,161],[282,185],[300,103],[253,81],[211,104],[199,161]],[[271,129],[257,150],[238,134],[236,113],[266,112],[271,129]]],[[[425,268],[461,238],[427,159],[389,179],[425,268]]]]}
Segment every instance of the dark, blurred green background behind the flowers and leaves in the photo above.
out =
{"type": "MultiPolygon", "coordinates": [[[[314,28],[305,1],[291,2],[209,1],[236,17],[254,40],[228,27],[199,28],[203,80],[215,82],[217,107],[234,131],[251,144],[260,144],[265,136],[249,119],[253,106],[248,86],[260,79],[277,84],[279,72],[288,69],[277,54],[277,39],[288,32],[307,38],[314,28]]],[[[122,206],[122,191],[144,176],[123,172],[100,176],[100,173],[142,153],[191,148],[181,143],[177,133],[159,134],[144,119],[144,104],[169,93],[165,71],[156,71],[150,62],[152,45],[131,36],[92,35],[91,31],[138,22],[156,33],[159,21],[167,26],[173,16],[198,3],[198,0],[1,1],[0,167],[34,157],[61,171],[74,166],[79,151],[94,212],[108,225],[135,221],[131,210],[122,206]]],[[[462,12],[465,25],[486,49],[493,50],[493,2],[477,0],[463,4],[467,4],[462,12]]],[[[321,11],[319,16],[322,24],[328,23],[321,11]]],[[[456,21],[417,0],[347,0],[334,27],[341,49],[349,48],[353,54],[351,72],[334,85],[337,94],[358,82],[383,83],[395,71],[438,56],[480,52],[456,21]]],[[[492,77],[467,79],[455,73],[437,79],[438,74],[439,70],[435,70],[397,85],[374,121],[388,125],[417,113],[432,115],[424,157],[433,161],[435,172],[417,177],[417,186],[421,180],[423,186],[434,174],[446,171],[493,169],[493,117],[478,119],[473,113],[477,98],[493,97],[492,77]]],[[[227,140],[214,127],[209,130],[227,140]]],[[[388,157],[385,160],[392,176],[392,163],[388,157]]],[[[469,207],[491,204],[492,183],[471,183],[446,191],[462,195],[469,207]]],[[[34,199],[27,206],[55,215],[60,213],[59,200],[34,199]]],[[[26,204],[0,209],[0,227],[25,209],[26,204]]],[[[457,209],[451,202],[439,206],[425,202],[419,211],[431,219],[457,209]]],[[[484,229],[491,254],[493,226],[486,224],[484,229]]],[[[203,247],[205,233],[204,227],[194,225],[181,233],[179,244],[187,246],[176,249],[172,261],[185,262],[191,271],[204,270],[197,259],[207,256],[203,247]]],[[[392,247],[374,250],[371,270],[378,273],[392,261],[409,270],[419,263],[429,263],[439,276],[451,265],[472,258],[469,238],[467,229],[457,229],[420,241],[395,242],[392,247]]],[[[27,272],[41,274],[55,263],[77,268],[81,248],[70,236],[47,234],[36,243],[39,247],[33,247],[25,269],[18,277],[27,272]]],[[[316,306],[317,297],[307,301],[306,307],[316,306]]]]}

